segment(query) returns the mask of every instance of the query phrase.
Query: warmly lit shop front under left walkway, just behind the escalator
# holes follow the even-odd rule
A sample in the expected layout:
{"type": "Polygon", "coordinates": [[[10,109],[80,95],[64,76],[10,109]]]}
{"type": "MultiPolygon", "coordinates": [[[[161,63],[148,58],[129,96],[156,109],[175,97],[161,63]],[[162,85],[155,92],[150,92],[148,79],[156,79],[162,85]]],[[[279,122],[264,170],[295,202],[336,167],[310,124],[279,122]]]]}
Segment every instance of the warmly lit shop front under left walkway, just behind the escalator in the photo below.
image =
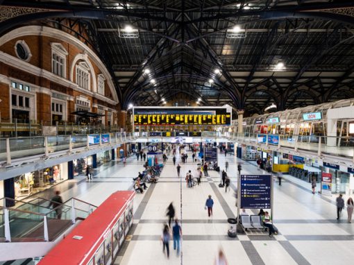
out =
{"type": "Polygon", "coordinates": [[[67,180],[67,163],[28,172],[14,178],[15,199],[21,200],[67,180]]]}

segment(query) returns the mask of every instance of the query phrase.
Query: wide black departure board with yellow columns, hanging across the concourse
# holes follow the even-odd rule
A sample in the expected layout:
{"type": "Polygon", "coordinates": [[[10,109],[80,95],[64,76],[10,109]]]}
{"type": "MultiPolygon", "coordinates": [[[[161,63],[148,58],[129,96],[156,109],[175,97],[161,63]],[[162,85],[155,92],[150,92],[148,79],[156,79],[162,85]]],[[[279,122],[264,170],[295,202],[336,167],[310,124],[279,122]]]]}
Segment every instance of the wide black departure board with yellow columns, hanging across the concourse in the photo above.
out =
{"type": "Polygon", "coordinates": [[[134,125],[231,125],[227,108],[134,108],[134,125]]]}

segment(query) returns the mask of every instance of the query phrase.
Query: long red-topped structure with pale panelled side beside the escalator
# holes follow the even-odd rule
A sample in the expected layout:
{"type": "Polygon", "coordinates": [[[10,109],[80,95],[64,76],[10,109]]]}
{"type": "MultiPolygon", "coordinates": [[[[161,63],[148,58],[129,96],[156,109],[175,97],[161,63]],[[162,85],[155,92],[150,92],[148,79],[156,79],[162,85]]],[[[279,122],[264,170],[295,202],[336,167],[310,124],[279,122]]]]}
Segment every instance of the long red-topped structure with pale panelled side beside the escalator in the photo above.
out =
{"type": "Polygon", "coordinates": [[[135,191],[113,193],[39,264],[113,264],[133,225],[134,196],[135,191]]]}

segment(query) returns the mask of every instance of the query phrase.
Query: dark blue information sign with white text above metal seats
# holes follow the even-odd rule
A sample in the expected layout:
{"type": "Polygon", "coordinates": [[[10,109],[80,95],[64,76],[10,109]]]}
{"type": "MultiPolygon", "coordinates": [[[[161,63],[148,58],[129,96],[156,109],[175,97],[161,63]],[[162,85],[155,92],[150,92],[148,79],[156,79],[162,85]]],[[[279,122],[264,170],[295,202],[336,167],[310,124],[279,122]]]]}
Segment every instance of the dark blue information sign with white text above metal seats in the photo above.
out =
{"type": "Polygon", "coordinates": [[[271,208],[271,175],[241,175],[240,187],[242,209],[271,208]]]}

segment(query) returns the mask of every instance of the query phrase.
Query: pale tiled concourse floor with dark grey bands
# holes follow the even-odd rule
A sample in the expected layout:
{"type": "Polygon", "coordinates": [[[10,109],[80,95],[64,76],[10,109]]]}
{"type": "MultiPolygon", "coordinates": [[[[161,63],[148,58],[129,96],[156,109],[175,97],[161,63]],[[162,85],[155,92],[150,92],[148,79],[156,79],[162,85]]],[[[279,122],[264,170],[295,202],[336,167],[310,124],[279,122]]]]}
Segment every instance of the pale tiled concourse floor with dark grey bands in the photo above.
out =
{"type": "MultiPolygon", "coordinates": [[[[239,161],[236,157],[219,155],[219,165],[224,169],[229,162],[228,175],[232,187],[227,193],[219,188],[220,176],[210,171],[201,185],[186,187],[185,173],[196,171],[191,160],[181,164],[181,176],[167,161],[160,180],[144,194],[135,196],[135,225],[130,231],[131,241],[119,252],[115,264],[167,264],[162,253],[160,237],[167,221],[166,208],[173,202],[176,216],[182,219],[182,255],[177,256],[170,243],[169,264],[214,264],[219,248],[224,250],[229,264],[351,264],[354,259],[354,228],[346,223],[346,211],[342,221],[336,220],[336,208],[332,198],[313,195],[308,183],[284,176],[282,186],[274,185],[273,220],[280,234],[269,238],[267,234],[239,234],[227,237],[226,219],[236,216],[235,187],[237,164],[242,163],[242,173],[260,173],[253,162],[239,161]],[[214,198],[212,218],[204,209],[208,195],[214,198]],[[140,204],[144,199],[145,202],[140,204]],[[182,205],[182,208],[180,207],[182,205]],[[183,263],[181,263],[181,261],[183,263]]],[[[73,185],[62,185],[64,198],[75,196],[99,205],[113,191],[131,189],[132,177],[142,170],[143,162],[130,157],[126,166],[112,162],[98,169],[91,182],[84,178],[73,185]]],[[[57,188],[60,188],[58,185],[57,188]]],[[[49,196],[49,195],[48,195],[49,196]]],[[[251,213],[250,210],[248,210],[251,213]]]]}

